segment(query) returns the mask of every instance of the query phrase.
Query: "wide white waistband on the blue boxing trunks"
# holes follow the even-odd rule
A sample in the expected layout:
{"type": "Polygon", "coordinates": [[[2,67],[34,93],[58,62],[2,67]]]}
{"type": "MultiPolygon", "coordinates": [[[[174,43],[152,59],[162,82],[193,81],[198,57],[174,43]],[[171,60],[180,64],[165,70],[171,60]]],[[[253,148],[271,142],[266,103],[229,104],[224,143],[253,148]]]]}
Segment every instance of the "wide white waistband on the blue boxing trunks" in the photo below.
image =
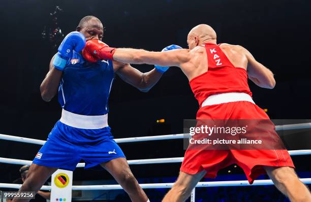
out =
{"type": "Polygon", "coordinates": [[[108,114],[100,116],[85,116],[66,110],[61,111],[60,122],[82,129],[100,129],[108,126],[108,114]]]}

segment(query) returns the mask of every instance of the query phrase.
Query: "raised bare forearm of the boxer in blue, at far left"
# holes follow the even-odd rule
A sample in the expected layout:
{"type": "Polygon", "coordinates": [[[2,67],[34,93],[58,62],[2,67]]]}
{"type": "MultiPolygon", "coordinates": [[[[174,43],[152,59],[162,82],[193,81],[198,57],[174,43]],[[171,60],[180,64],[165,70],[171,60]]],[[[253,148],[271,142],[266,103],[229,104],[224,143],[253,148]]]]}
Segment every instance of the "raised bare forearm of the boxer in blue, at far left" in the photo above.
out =
{"type": "Polygon", "coordinates": [[[49,102],[57,93],[61,75],[63,75],[63,72],[54,68],[53,59],[54,57],[50,61],[50,70],[40,86],[41,97],[46,102],[49,102]]]}

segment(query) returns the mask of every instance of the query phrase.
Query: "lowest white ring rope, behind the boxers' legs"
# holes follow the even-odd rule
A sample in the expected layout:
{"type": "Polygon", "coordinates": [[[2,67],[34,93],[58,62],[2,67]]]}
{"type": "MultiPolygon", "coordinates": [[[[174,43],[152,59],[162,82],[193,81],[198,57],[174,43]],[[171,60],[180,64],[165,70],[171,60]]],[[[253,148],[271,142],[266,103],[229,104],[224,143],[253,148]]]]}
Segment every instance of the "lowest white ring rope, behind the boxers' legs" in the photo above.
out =
{"type": "MultiPolygon", "coordinates": [[[[304,184],[311,184],[311,178],[301,178],[300,181],[304,184]]],[[[140,184],[143,189],[156,188],[171,188],[174,183],[152,183],[140,184]]],[[[258,186],[258,185],[273,185],[272,180],[255,180],[253,184],[249,184],[247,180],[241,181],[215,181],[215,182],[199,182],[196,187],[219,187],[219,186],[258,186]]],[[[21,184],[0,183],[2,188],[19,189],[21,184]]],[[[41,190],[50,190],[51,186],[42,186],[41,190]]],[[[72,186],[72,190],[113,190],[122,189],[120,185],[84,185],[72,186]]]]}

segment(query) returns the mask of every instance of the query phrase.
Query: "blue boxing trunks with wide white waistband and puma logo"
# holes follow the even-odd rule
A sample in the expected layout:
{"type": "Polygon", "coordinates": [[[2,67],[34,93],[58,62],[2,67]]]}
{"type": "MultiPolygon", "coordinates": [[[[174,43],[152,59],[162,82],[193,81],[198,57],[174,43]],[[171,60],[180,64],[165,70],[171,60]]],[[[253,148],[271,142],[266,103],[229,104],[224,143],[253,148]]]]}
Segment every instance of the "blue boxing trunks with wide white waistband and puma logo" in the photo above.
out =
{"type": "Polygon", "coordinates": [[[56,122],[33,163],[74,171],[77,163],[83,160],[85,169],[101,170],[100,163],[125,158],[113,140],[107,115],[84,116],[63,109],[61,119],[56,122]]]}

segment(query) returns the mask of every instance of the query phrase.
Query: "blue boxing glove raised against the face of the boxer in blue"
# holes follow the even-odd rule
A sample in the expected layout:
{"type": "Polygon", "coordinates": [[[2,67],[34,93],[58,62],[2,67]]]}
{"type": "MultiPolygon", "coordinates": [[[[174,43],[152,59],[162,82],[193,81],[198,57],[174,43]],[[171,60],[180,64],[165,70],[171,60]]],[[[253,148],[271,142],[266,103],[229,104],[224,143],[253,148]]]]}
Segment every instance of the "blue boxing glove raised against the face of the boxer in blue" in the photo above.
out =
{"type": "Polygon", "coordinates": [[[53,65],[57,70],[63,71],[67,59],[72,56],[72,51],[80,52],[85,46],[85,37],[79,31],[70,32],[58,47],[55,54],[53,65]]]}

